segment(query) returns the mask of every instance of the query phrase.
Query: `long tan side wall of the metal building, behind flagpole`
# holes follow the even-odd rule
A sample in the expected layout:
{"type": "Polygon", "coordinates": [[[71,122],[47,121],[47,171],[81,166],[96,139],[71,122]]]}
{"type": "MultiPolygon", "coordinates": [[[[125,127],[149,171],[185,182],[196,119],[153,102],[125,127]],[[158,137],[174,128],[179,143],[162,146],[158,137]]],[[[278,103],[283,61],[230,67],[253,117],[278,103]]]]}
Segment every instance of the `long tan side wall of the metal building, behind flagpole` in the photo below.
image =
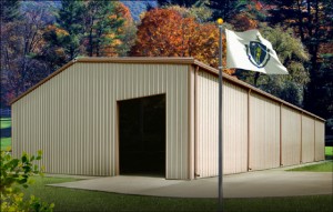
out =
{"type": "MultiPolygon", "coordinates": [[[[218,80],[196,75],[198,178],[218,175],[218,80]]],[[[324,160],[324,122],[275,99],[223,80],[224,174],[324,160]]]]}

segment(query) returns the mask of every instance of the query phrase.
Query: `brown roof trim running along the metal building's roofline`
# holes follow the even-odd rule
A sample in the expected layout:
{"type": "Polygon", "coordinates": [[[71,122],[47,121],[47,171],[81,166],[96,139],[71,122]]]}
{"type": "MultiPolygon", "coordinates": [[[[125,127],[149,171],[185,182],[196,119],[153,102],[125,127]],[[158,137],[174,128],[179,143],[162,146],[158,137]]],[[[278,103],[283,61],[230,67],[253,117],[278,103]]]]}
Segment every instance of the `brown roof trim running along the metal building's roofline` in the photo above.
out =
{"type": "MultiPolygon", "coordinates": [[[[33,85],[32,88],[30,88],[28,91],[26,91],[24,93],[22,93],[21,95],[19,95],[18,98],[16,98],[14,100],[12,100],[10,102],[10,104],[13,104],[14,102],[19,101],[20,99],[22,99],[23,97],[26,97],[27,94],[29,94],[30,92],[32,92],[34,89],[37,89],[38,87],[42,85],[43,83],[46,83],[47,81],[49,81],[50,79],[52,79],[53,77],[58,75],[59,73],[61,73],[62,71],[64,71],[65,69],[68,69],[69,67],[71,67],[74,63],[162,63],[162,64],[192,64],[192,65],[199,65],[200,68],[202,68],[204,71],[208,71],[210,73],[213,73],[215,75],[219,75],[219,70],[209,67],[198,60],[194,60],[194,58],[171,58],[171,57],[123,57],[123,58],[77,58],[70,62],[68,62],[67,64],[64,64],[63,67],[61,67],[60,69],[58,69],[56,72],[53,72],[52,74],[50,74],[49,77],[47,77],[46,79],[41,80],[39,83],[37,83],[36,85],[33,85]]],[[[293,108],[297,111],[301,111],[303,113],[306,113],[311,117],[314,117],[321,121],[325,121],[324,119],[309,112],[305,111],[299,107],[295,107],[286,101],[283,101],[272,94],[269,94],[260,89],[256,89],[241,80],[238,80],[231,75],[228,75],[225,73],[223,73],[223,79],[228,80],[229,82],[232,82],[234,84],[238,84],[240,87],[243,87],[245,89],[249,89],[251,91],[254,91],[261,95],[264,95],[273,101],[276,101],[279,103],[282,103],[284,105],[287,105],[290,108],[293,108]]]]}

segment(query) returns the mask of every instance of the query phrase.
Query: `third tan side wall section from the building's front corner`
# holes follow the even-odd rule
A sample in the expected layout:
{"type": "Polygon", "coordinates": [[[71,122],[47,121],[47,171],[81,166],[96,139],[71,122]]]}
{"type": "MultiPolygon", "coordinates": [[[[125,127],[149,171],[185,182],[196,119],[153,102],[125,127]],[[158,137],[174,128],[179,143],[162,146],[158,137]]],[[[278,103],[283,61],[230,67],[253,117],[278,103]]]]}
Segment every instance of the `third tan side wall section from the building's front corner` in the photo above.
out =
{"type": "Polygon", "coordinates": [[[300,164],[301,157],[301,113],[282,107],[282,164],[300,164]]]}

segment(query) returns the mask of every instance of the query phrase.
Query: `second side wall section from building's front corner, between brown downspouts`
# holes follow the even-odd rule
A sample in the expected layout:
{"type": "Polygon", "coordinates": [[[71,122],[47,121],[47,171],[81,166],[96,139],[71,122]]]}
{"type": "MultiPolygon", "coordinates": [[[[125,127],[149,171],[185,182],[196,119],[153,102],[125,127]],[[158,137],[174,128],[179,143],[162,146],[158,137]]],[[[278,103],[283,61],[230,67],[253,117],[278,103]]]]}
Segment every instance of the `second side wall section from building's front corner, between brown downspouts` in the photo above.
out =
{"type": "Polygon", "coordinates": [[[250,169],[279,166],[280,104],[253,93],[250,98],[250,169]]]}

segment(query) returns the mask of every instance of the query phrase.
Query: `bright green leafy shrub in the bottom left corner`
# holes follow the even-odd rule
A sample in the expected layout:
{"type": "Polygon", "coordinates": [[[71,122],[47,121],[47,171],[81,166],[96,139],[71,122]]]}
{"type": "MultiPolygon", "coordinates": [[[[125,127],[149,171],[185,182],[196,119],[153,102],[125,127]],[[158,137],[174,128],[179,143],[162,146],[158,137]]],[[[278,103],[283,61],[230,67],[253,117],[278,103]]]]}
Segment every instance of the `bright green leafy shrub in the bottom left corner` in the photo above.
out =
{"type": "Polygon", "coordinates": [[[28,155],[23,153],[20,159],[13,159],[7,151],[1,150],[0,155],[0,195],[2,212],[51,212],[54,204],[48,204],[40,199],[31,195],[27,201],[24,194],[21,193],[20,186],[28,188],[33,183],[29,178],[34,174],[42,175],[40,169],[34,161],[41,160],[42,152],[37,155],[28,155]]]}

